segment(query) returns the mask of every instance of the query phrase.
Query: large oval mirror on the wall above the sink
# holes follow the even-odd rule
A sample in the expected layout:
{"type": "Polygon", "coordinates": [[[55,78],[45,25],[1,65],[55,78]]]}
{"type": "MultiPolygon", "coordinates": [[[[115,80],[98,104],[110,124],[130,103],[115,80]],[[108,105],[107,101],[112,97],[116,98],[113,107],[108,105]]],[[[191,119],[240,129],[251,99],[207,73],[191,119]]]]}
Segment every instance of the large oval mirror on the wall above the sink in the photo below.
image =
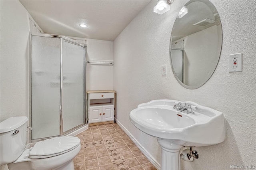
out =
{"type": "Polygon", "coordinates": [[[187,89],[202,86],[214,72],[222,46],[219,14],[208,0],[191,0],[172,28],[170,62],[177,81],[187,89]]]}

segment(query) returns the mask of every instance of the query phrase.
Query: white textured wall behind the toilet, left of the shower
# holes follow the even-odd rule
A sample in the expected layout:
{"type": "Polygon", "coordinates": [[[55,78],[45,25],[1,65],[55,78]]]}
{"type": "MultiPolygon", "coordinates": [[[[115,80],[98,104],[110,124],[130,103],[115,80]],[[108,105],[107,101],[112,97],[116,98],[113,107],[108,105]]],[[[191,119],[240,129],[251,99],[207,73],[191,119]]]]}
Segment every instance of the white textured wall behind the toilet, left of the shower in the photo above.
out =
{"type": "Polygon", "coordinates": [[[0,121],[28,116],[30,15],[18,1],[1,1],[0,121]]]}

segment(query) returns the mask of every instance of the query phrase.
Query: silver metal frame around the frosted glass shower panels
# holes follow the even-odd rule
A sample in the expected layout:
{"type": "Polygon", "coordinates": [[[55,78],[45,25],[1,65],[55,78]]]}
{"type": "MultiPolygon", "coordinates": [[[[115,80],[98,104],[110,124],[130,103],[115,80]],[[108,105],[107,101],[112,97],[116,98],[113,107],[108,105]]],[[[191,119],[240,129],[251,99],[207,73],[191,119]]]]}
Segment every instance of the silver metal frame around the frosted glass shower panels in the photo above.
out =
{"type": "MultiPolygon", "coordinates": [[[[62,135],[68,135],[69,133],[73,132],[74,130],[87,126],[87,118],[86,118],[86,109],[87,109],[87,99],[86,99],[86,53],[87,53],[87,44],[82,42],[77,42],[75,40],[72,40],[65,36],[59,36],[59,35],[53,35],[53,34],[38,34],[38,33],[31,33],[30,32],[30,48],[29,48],[29,126],[32,127],[32,36],[39,36],[39,37],[47,37],[47,38],[58,38],[60,39],[60,134],[57,136],[62,135]],[[75,45],[79,45],[81,47],[84,47],[84,123],[81,125],[78,125],[70,130],[67,130],[66,132],[63,132],[63,114],[62,114],[62,86],[63,86],[63,42],[73,43],[75,45]]],[[[38,138],[38,139],[32,139],[32,132],[29,133],[29,142],[38,142],[47,138],[57,137],[57,136],[49,136],[45,138],[38,138]]]]}

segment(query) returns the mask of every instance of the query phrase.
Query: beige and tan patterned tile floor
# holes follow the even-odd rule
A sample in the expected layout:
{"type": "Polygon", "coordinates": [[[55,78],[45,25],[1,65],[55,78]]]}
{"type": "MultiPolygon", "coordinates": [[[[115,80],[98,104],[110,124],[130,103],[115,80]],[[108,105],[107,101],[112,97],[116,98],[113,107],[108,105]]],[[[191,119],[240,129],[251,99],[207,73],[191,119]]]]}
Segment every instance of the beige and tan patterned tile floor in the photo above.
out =
{"type": "Polygon", "coordinates": [[[75,170],[156,170],[118,124],[91,126],[76,135],[75,170]]]}

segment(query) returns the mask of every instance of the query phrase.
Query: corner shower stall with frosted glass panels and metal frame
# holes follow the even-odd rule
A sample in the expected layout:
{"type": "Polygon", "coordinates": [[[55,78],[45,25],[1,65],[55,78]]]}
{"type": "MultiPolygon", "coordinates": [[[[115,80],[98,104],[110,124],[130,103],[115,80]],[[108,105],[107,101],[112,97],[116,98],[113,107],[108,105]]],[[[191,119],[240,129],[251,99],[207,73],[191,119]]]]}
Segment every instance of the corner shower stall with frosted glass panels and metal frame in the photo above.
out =
{"type": "Polygon", "coordinates": [[[31,142],[88,127],[86,44],[32,33],[30,47],[31,142]]]}

